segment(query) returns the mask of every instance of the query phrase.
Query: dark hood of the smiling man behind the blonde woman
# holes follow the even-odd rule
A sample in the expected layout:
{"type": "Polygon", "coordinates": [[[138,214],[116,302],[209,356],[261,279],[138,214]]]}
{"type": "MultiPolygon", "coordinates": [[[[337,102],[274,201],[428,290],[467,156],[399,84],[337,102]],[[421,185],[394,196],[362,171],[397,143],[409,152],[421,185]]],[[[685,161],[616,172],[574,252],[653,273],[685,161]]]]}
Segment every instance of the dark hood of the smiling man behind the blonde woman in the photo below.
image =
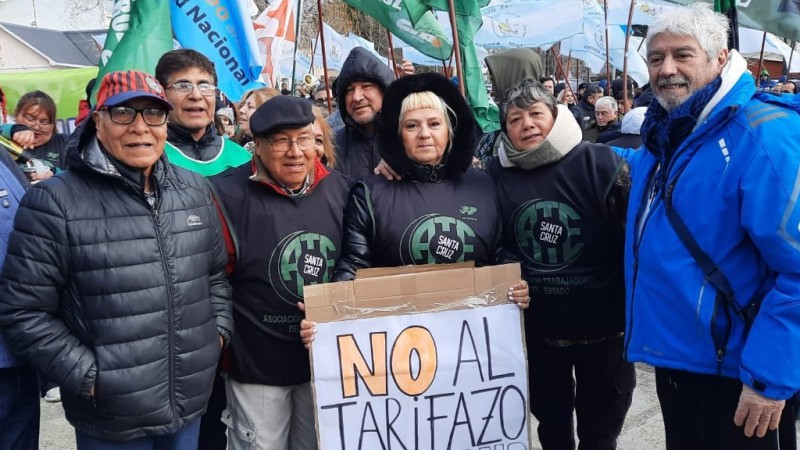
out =
{"type": "Polygon", "coordinates": [[[385,92],[386,88],[394,81],[394,78],[392,69],[369,50],[363,47],[356,47],[350,51],[347,59],[342,64],[339,76],[336,78],[336,101],[344,123],[352,125],[344,101],[345,92],[350,83],[354,81],[372,81],[377,83],[381,90],[385,92]]]}

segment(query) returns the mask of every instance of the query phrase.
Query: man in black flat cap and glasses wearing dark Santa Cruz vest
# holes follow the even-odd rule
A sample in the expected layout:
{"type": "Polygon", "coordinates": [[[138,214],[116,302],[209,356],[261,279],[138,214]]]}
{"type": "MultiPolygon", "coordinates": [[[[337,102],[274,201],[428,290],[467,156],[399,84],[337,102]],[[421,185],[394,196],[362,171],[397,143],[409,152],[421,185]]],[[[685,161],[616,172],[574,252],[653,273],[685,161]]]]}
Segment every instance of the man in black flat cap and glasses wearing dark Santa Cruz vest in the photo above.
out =
{"type": "Polygon", "coordinates": [[[311,102],[267,100],[250,117],[252,165],[212,179],[230,226],[233,320],[228,448],[317,448],[303,286],[325,283],[340,253],[349,182],[314,151],[311,102]]]}

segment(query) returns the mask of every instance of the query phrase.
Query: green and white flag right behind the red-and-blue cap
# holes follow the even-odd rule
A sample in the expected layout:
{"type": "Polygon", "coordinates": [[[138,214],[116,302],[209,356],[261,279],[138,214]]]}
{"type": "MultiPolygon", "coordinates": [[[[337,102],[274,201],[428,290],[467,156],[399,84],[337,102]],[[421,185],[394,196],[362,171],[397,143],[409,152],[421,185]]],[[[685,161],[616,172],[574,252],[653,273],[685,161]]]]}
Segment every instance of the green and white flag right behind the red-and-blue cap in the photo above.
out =
{"type": "Polygon", "coordinates": [[[169,3],[164,0],[115,0],[111,25],[100,54],[98,83],[92,92],[93,105],[100,88],[99,81],[105,74],[131,69],[153,74],[158,58],[172,50],[169,3]]]}

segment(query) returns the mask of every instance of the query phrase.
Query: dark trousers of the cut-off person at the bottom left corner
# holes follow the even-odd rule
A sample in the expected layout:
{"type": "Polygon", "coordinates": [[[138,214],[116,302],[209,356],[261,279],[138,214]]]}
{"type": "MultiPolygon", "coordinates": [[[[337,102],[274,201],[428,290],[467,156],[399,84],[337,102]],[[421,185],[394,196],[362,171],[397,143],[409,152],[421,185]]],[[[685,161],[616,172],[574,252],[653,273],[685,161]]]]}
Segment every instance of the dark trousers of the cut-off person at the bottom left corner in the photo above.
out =
{"type": "Polygon", "coordinates": [[[0,448],[39,448],[39,379],[30,365],[0,368],[0,448]]]}

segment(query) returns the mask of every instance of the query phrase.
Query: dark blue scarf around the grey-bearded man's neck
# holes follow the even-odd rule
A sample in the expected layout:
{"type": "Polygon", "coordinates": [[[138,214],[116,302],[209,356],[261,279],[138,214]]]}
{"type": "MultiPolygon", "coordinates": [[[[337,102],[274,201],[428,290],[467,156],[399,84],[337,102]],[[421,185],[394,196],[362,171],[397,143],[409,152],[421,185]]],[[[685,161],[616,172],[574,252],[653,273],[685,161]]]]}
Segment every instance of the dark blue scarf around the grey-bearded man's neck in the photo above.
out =
{"type": "Polygon", "coordinates": [[[722,78],[717,77],[672,112],[664,109],[657,100],[650,103],[642,123],[642,144],[647,151],[659,157],[662,167],[668,165],[675,150],[691,134],[703,108],[717,93],[720,85],[722,78]]]}

